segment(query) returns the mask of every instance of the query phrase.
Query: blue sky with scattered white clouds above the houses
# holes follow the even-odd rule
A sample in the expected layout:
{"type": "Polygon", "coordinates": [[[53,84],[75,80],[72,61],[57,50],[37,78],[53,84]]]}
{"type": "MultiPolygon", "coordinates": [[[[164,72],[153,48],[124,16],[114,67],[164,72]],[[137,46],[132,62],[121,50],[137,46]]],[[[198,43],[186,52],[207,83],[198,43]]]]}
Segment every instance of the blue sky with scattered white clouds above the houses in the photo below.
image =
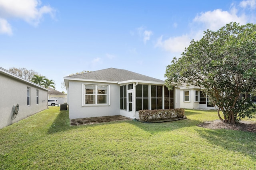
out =
{"type": "Polygon", "coordinates": [[[0,67],[34,70],[62,89],[81,71],[126,69],[165,80],[191,40],[256,23],[256,0],[0,0],[0,67]]]}

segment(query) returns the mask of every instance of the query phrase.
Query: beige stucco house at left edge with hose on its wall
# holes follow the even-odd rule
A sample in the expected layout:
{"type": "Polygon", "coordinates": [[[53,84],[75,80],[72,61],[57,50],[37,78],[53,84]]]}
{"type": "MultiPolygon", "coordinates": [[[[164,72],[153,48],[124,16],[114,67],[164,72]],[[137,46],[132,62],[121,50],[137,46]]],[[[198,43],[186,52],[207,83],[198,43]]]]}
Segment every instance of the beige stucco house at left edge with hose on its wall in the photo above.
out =
{"type": "Polygon", "coordinates": [[[44,87],[0,67],[0,128],[47,109],[44,87]],[[13,105],[19,105],[18,115],[12,120],[13,105]]]}

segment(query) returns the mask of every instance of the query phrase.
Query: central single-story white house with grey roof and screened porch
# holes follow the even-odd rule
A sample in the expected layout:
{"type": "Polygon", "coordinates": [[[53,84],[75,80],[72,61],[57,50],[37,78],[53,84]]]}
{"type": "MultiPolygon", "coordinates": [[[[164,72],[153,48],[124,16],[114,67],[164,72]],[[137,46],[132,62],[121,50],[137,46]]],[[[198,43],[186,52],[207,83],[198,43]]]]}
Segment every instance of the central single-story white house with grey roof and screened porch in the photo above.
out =
{"type": "Polygon", "coordinates": [[[180,108],[180,89],[124,69],[103,69],[64,77],[70,119],[123,115],[138,119],[142,109],[180,108]],[[178,95],[176,95],[178,94],[178,95]]]}

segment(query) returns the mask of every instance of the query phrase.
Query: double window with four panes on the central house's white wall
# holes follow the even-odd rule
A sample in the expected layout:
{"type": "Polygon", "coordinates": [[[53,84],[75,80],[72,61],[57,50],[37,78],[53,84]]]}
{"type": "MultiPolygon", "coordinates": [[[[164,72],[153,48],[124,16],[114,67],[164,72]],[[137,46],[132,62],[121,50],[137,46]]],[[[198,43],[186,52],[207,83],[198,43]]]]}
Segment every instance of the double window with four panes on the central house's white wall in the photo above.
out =
{"type": "Polygon", "coordinates": [[[108,85],[84,84],[84,105],[107,105],[108,85]]]}

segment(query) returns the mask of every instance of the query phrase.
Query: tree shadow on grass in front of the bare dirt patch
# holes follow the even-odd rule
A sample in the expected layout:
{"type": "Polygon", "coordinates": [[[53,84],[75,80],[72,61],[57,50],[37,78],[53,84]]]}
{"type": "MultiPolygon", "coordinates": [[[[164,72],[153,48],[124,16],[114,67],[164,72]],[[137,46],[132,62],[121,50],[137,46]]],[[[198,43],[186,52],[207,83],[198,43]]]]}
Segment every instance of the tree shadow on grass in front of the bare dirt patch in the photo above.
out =
{"type": "Polygon", "coordinates": [[[256,159],[256,133],[226,129],[197,129],[200,136],[224,150],[240,152],[256,159]]]}

